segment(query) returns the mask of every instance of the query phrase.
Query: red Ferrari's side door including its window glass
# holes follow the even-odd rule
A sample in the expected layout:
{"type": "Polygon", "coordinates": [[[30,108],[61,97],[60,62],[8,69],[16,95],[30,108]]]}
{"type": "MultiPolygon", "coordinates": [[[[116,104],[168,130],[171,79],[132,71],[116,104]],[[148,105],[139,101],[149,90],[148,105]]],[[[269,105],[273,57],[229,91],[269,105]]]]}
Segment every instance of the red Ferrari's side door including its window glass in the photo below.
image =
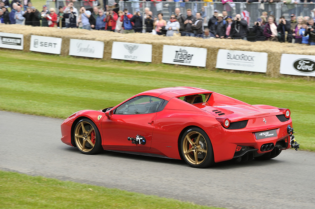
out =
{"type": "Polygon", "coordinates": [[[163,99],[138,96],[124,102],[113,110],[110,118],[102,120],[104,145],[106,148],[149,150],[157,108],[163,99]],[[146,144],[132,144],[128,137],[141,135],[146,144]]]}

